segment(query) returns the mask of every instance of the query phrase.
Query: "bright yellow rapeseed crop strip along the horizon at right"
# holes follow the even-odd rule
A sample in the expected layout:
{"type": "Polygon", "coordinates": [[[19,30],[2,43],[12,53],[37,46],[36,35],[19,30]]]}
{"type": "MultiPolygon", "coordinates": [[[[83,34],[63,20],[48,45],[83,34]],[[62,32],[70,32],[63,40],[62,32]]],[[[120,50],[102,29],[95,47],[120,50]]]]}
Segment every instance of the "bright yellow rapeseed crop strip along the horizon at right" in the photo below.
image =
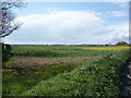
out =
{"type": "Polygon", "coordinates": [[[123,49],[131,49],[128,46],[115,46],[115,47],[84,47],[82,49],[90,49],[90,50],[123,50],[123,49]]]}

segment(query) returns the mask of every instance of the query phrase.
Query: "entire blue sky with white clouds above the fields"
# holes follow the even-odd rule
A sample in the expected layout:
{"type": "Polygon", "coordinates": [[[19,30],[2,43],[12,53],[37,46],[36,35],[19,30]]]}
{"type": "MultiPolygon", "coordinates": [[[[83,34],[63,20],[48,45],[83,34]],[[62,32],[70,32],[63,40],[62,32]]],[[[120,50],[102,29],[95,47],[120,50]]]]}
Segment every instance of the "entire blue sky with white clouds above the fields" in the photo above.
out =
{"type": "Polygon", "coordinates": [[[12,45],[81,45],[129,41],[126,2],[27,2],[13,10],[23,25],[3,39],[12,45]]]}

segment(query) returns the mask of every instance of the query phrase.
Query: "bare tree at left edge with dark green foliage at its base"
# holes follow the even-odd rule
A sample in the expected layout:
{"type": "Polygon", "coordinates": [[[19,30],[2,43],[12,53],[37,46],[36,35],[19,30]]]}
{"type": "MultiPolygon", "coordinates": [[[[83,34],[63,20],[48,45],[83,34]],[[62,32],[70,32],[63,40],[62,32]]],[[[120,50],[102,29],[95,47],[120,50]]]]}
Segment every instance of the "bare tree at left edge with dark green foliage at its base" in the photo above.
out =
{"type": "MultiPolygon", "coordinates": [[[[21,0],[0,0],[0,39],[9,36],[22,25],[22,23],[14,21],[15,16],[12,10],[23,7],[24,3],[21,0]]],[[[11,58],[12,49],[10,45],[0,44],[0,49],[2,49],[2,61],[4,63],[11,58]]]]}

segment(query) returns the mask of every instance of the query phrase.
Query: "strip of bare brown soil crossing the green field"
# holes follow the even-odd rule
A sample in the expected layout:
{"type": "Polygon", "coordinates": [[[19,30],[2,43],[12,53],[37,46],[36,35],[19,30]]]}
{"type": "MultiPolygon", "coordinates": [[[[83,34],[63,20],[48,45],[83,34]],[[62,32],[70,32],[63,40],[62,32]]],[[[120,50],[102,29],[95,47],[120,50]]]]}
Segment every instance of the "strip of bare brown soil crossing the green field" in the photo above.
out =
{"type": "Polygon", "coordinates": [[[27,66],[37,66],[37,65],[50,65],[58,64],[63,62],[73,62],[85,59],[97,59],[102,56],[96,57],[64,57],[64,58],[38,58],[38,57],[14,57],[14,65],[16,68],[27,68],[27,66]]]}

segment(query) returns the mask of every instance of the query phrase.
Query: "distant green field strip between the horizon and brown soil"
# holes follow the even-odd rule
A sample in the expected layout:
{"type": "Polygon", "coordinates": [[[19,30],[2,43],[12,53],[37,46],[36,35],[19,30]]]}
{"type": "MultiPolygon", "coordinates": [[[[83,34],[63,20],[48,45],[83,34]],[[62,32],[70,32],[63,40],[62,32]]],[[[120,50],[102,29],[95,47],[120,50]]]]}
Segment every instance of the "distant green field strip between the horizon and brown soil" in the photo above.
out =
{"type": "Polygon", "coordinates": [[[70,46],[12,46],[13,56],[24,57],[90,57],[107,54],[108,51],[85,50],[80,47],[70,46]]]}

